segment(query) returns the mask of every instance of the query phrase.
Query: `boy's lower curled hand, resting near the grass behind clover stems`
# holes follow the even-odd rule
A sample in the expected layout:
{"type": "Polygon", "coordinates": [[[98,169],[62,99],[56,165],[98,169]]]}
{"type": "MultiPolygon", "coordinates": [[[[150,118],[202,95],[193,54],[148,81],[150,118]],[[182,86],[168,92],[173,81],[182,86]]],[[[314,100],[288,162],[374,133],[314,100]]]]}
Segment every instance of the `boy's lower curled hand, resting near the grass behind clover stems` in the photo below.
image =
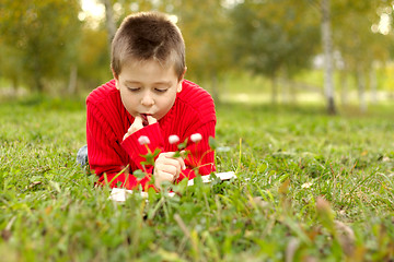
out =
{"type": "Polygon", "coordinates": [[[185,162],[182,157],[174,157],[175,152],[164,152],[159,155],[154,163],[154,186],[160,189],[164,181],[174,182],[186,169],[185,162]]]}

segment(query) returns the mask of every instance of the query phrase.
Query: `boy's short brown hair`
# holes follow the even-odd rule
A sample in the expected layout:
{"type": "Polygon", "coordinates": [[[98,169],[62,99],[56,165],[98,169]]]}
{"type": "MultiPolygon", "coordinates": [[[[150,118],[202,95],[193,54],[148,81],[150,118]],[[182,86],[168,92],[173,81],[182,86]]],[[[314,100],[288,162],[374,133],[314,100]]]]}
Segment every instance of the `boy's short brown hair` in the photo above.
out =
{"type": "Polygon", "coordinates": [[[179,28],[159,12],[141,12],[127,16],[112,43],[111,67],[119,75],[128,59],[154,59],[163,67],[174,66],[178,79],[185,68],[185,43],[179,28]]]}

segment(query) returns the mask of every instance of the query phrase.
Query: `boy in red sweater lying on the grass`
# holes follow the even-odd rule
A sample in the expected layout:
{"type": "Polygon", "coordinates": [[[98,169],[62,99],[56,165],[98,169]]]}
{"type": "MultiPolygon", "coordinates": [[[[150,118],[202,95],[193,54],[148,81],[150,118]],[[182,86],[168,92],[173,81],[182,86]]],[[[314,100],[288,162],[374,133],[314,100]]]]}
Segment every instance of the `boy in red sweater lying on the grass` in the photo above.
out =
{"type": "Polygon", "coordinates": [[[215,105],[206,91],[184,80],[179,28],[161,13],[129,15],[112,43],[111,68],[114,80],[86,98],[88,158],[99,183],[159,190],[163,181],[215,171],[208,145],[215,138],[215,105]],[[175,154],[184,141],[185,158],[175,154]],[[154,165],[142,165],[157,148],[154,165]],[[147,174],[141,179],[132,175],[138,169],[147,174]]]}

